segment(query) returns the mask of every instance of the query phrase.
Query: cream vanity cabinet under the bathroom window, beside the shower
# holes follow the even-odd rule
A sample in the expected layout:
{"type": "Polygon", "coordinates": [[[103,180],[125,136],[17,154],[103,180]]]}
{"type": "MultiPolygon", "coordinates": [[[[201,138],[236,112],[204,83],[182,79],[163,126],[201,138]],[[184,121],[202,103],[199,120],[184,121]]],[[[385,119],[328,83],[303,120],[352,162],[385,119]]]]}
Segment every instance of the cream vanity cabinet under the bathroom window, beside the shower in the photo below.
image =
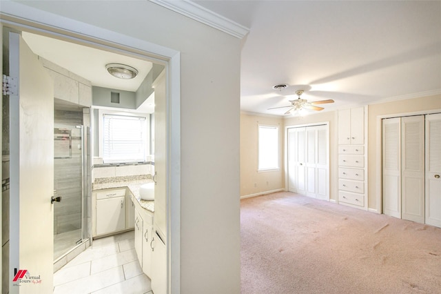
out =
{"type": "Polygon", "coordinates": [[[94,190],[92,193],[92,236],[105,236],[133,228],[134,207],[127,188],[94,190]],[[132,213],[133,209],[133,213],[132,213]],[[128,219],[132,214],[132,221],[128,219]]]}

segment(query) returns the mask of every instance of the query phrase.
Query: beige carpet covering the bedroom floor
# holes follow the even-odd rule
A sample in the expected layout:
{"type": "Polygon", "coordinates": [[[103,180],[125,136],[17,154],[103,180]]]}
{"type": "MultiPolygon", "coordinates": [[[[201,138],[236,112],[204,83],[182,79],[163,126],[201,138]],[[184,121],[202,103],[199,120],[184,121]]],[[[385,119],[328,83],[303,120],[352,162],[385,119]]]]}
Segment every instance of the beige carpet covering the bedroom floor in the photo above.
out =
{"type": "Polygon", "coordinates": [[[243,294],[441,293],[441,228],[286,192],[240,222],[243,294]]]}

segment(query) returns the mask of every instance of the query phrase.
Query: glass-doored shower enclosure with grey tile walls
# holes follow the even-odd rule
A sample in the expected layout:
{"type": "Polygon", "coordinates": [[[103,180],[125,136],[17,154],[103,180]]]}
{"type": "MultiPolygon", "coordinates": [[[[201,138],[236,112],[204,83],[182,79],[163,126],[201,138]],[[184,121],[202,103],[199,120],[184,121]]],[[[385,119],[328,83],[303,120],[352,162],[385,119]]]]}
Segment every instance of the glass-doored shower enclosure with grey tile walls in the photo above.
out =
{"type": "Polygon", "coordinates": [[[54,260],[90,237],[88,130],[54,124],[54,260]]]}

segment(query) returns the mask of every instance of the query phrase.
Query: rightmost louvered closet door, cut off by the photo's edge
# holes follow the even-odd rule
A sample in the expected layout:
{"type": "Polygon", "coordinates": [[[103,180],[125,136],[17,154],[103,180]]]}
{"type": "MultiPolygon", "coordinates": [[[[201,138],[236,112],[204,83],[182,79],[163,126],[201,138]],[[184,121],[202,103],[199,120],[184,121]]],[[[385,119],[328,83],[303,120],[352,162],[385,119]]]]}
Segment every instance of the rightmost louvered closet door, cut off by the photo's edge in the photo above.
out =
{"type": "Polygon", "coordinates": [[[426,115],[426,224],[441,227],[441,114],[426,115]]]}

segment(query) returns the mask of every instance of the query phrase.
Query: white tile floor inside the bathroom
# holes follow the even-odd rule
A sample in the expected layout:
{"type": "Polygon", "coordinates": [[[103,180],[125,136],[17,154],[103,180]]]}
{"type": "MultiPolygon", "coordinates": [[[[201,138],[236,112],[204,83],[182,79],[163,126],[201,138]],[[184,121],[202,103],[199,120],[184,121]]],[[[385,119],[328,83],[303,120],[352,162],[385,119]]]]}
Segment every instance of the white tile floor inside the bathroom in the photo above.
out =
{"type": "Polygon", "coordinates": [[[134,231],[96,239],[92,246],[54,273],[54,294],[148,293],[134,249],[134,231]]]}

